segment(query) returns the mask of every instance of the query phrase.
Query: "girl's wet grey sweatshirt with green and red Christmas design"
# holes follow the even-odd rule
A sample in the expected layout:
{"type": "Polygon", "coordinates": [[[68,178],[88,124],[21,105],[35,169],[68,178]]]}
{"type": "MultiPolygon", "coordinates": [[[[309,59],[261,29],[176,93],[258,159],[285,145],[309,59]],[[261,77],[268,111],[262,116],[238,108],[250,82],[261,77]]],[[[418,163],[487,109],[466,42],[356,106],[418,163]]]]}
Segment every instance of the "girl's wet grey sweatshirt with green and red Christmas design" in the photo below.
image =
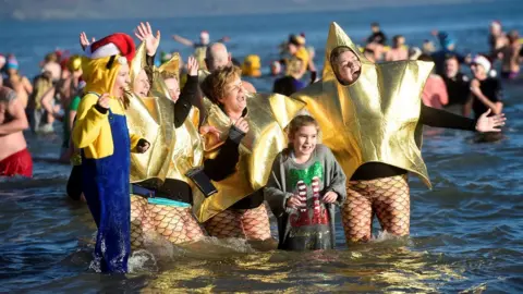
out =
{"type": "Polygon", "coordinates": [[[317,145],[311,159],[302,164],[285,151],[272,163],[265,187],[265,198],[278,219],[279,249],[308,250],[333,248],[335,205],[323,203],[324,195],[338,194],[336,205],[346,198],[345,174],[335,156],[324,145],[317,145]],[[302,201],[297,209],[287,208],[293,195],[302,201]]]}

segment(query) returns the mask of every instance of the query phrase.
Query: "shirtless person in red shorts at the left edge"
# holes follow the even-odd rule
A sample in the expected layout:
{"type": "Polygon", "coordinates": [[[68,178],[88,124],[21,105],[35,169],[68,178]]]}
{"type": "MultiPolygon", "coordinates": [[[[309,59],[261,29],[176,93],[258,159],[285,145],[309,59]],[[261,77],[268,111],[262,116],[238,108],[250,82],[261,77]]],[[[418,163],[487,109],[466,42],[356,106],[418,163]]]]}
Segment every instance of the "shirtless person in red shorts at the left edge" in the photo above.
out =
{"type": "Polygon", "coordinates": [[[16,93],[0,86],[0,176],[33,176],[33,159],[23,134],[28,126],[16,93]]]}

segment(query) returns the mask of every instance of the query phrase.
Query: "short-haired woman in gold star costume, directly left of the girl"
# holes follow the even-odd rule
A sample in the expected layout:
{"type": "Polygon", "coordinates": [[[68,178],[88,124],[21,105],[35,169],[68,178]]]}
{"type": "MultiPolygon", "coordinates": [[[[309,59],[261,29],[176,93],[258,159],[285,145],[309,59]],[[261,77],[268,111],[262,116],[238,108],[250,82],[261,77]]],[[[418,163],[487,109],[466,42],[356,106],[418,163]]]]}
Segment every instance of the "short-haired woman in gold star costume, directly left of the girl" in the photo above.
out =
{"type": "Polygon", "coordinates": [[[230,158],[235,172],[214,182],[218,193],[195,198],[196,217],[211,236],[268,240],[270,225],[262,187],[267,183],[272,160],[285,146],[283,127],[303,103],[282,95],[248,96],[241,70],[235,66],[210,73],[202,89],[212,101],[205,125],[222,133],[219,138],[206,136],[206,157],[212,158],[223,148],[223,136],[238,137],[241,145],[230,158]]]}

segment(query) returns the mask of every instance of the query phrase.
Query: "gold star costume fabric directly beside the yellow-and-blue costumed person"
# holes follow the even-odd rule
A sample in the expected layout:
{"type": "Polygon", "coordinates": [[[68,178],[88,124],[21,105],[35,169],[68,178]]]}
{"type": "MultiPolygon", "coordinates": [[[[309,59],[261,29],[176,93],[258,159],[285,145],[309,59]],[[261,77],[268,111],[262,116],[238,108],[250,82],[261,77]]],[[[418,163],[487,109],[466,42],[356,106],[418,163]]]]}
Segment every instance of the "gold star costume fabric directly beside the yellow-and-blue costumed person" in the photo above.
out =
{"type": "MultiPolygon", "coordinates": [[[[131,63],[132,81],[145,66],[145,46],[136,50],[136,57],[131,63]]],[[[131,83],[132,84],[132,83],[131,83]]],[[[150,143],[145,154],[131,154],[131,183],[155,179],[165,181],[169,171],[169,158],[175,143],[174,103],[162,97],[138,97],[132,91],[125,94],[130,99],[126,110],[127,127],[150,143]]]]}

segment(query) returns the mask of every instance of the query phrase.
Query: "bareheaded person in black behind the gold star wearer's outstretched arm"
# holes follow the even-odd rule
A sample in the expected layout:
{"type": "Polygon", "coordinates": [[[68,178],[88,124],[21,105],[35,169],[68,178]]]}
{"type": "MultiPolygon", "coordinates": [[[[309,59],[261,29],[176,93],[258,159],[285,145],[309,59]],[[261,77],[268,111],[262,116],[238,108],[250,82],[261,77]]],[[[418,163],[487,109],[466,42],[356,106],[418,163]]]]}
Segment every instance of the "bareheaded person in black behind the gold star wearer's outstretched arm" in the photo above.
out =
{"type": "Polygon", "coordinates": [[[460,62],[455,56],[448,56],[445,60],[445,75],[442,77],[449,94],[449,103],[445,106],[445,109],[469,118],[471,113],[465,105],[471,96],[471,79],[461,72],[460,62]]]}

